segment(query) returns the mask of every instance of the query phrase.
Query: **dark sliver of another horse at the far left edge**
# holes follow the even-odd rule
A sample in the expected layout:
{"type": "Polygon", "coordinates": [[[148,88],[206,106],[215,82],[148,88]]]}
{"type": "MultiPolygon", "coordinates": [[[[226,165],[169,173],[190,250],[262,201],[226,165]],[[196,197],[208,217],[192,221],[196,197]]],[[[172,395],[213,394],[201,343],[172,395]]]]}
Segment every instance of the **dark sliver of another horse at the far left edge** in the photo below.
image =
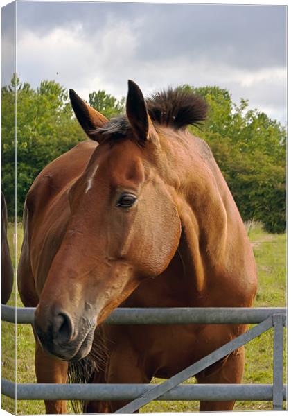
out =
{"type": "Polygon", "coordinates": [[[3,192],[1,192],[1,227],[1,302],[6,304],[12,292],[14,272],[7,239],[8,214],[3,192]]]}

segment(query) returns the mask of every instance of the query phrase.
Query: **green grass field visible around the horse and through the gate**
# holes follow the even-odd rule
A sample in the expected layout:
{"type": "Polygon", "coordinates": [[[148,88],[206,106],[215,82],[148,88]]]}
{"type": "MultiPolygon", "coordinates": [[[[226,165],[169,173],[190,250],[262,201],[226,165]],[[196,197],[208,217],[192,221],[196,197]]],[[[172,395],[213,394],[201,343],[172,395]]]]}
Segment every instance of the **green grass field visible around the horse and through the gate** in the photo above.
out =
{"type": "MultiPolygon", "coordinates": [[[[9,229],[10,247],[12,247],[13,229],[9,229]]],[[[267,234],[256,225],[249,232],[253,243],[258,267],[258,293],[254,306],[286,305],[286,235],[267,234]]],[[[17,227],[17,252],[22,240],[21,225],[17,227]]],[[[14,304],[12,294],[9,304],[14,304]]],[[[23,306],[17,297],[17,306],[23,306]]],[[[12,324],[2,322],[2,376],[13,380],[14,372],[14,328],[12,324]]],[[[245,347],[245,374],[243,383],[272,383],[272,330],[263,333],[245,347]]],[[[284,354],[285,356],[285,354],[284,354]]],[[[286,365],[285,365],[286,368],[286,365]]],[[[155,379],[154,382],[160,380],[155,379]]],[[[17,382],[35,383],[34,338],[30,325],[17,327],[17,382]]],[[[189,379],[188,383],[194,383],[189,379]]],[[[284,372],[284,383],[286,374],[284,372]]],[[[2,396],[2,408],[15,413],[12,400],[2,396]]],[[[68,411],[70,412],[69,406],[68,411]]],[[[197,401],[155,401],[145,406],[141,412],[186,412],[198,410],[197,401]]],[[[272,410],[270,402],[238,401],[234,410],[272,410]]],[[[44,413],[43,401],[18,401],[17,413],[21,415],[44,413]]]]}

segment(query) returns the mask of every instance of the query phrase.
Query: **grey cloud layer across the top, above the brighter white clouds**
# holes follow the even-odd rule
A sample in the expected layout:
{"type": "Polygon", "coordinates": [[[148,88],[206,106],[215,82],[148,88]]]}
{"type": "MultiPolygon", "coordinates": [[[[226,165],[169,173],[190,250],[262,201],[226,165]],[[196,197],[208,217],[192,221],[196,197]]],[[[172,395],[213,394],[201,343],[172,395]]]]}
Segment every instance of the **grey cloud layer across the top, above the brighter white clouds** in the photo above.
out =
{"type": "Polygon", "coordinates": [[[155,3],[18,3],[17,22],[45,35],[55,27],[84,25],[98,35],[112,21],[140,21],[137,57],[155,60],[187,53],[240,67],[285,65],[284,6],[155,3]]]}

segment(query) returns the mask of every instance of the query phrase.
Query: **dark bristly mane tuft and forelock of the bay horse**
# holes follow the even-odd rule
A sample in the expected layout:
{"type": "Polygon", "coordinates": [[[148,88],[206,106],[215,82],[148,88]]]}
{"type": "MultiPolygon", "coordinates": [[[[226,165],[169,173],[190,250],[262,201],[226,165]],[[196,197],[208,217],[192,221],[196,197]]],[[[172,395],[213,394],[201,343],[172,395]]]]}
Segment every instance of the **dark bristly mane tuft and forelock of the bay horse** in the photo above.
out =
{"type": "MultiPolygon", "coordinates": [[[[155,92],[145,100],[152,122],[169,126],[175,130],[187,125],[199,125],[206,119],[207,104],[194,93],[186,92],[181,87],[169,88],[155,92]]],[[[127,116],[116,116],[96,132],[109,135],[112,139],[123,138],[130,130],[127,116]]]]}

